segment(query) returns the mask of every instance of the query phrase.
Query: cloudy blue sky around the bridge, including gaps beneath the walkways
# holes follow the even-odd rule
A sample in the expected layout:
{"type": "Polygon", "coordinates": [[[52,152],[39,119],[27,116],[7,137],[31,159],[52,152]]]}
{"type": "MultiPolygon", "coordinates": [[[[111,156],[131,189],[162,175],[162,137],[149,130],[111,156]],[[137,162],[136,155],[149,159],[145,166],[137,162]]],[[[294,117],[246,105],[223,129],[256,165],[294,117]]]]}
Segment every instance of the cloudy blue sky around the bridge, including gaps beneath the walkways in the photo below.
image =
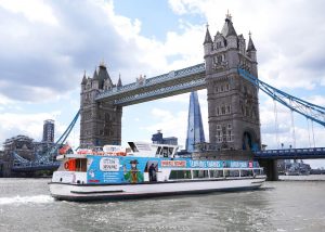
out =
{"type": "MultiPolygon", "coordinates": [[[[130,83],[204,62],[206,24],[212,37],[227,11],[237,34],[257,49],[259,78],[325,105],[323,0],[0,0],[0,143],[17,134],[40,141],[43,120],[58,138],[80,103],[80,82],[104,62],[113,82],[130,83]]],[[[198,92],[206,138],[207,93],[198,92]]],[[[325,130],[260,92],[268,149],[325,146],[325,130]],[[295,137],[294,134],[295,128],[295,137]],[[277,138],[277,139],[276,139],[277,138]],[[278,142],[277,142],[278,141],[278,142]]],[[[190,93],[123,108],[122,143],[151,141],[157,130],[184,146],[190,93]]],[[[79,143],[79,121],[68,141],[79,143]]],[[[308,160],[325,167],[325,160],[308,160]]]]}

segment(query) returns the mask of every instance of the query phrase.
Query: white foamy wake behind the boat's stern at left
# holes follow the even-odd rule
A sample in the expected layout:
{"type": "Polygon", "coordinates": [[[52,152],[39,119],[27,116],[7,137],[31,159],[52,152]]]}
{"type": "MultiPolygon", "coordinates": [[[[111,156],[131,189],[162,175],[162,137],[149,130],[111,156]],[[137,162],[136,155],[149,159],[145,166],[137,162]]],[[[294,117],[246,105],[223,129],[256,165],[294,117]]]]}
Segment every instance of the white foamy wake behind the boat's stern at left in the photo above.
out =
{"type": "Polygon", "coordinates": [[[0,205],[11,204],[47,204],[54,199],[50,195],[0,197],[0,205]]]}

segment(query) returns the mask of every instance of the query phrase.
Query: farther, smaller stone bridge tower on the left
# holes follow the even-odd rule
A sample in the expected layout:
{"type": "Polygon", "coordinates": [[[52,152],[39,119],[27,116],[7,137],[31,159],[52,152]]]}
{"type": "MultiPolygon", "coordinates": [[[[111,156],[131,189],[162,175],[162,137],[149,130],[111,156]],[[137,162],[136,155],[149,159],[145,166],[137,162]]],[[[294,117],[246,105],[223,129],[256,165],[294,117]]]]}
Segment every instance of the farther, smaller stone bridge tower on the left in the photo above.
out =
{"type": "MultiPolygon", "coordinates": [[[[121,86],[119,79],[118,86],[121,86]]],[[[80,93],[80,146],[102,146],[121,143],[122,107],[113,102],[95,101],[95,96],[115,87],[104,63],[93,77],[83,75],[80,93]]]]}

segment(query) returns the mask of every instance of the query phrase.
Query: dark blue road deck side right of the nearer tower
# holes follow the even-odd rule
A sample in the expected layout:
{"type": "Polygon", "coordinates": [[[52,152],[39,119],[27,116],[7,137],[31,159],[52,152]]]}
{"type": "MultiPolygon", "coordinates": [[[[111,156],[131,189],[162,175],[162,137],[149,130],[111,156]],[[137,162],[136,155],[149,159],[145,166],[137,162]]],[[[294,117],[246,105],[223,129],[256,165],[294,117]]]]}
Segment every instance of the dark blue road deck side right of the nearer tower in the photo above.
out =
{"type": "Polygon", "coordinates": [[[325,147],[265,150],[253,153],[258,159],[325,158],[325,147]]]}

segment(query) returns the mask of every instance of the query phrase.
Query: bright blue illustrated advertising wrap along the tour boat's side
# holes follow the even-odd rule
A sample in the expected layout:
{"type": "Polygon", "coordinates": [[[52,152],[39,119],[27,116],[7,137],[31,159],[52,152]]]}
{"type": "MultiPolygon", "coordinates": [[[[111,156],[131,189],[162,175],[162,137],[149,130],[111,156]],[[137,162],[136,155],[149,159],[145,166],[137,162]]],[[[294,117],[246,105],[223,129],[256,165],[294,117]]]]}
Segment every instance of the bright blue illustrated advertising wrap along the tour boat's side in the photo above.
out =
{"type": "Polygon", "coordinates": [[[89,155],[87,182],[92,184],[105,183],[141,183],[144,172],[161,168],[252,168],[259,167],[257,162],[238,160],[193,160],[178,158],[174,160],[156,157],[125,157],[125,156],[93,156],[89,155]]]}

